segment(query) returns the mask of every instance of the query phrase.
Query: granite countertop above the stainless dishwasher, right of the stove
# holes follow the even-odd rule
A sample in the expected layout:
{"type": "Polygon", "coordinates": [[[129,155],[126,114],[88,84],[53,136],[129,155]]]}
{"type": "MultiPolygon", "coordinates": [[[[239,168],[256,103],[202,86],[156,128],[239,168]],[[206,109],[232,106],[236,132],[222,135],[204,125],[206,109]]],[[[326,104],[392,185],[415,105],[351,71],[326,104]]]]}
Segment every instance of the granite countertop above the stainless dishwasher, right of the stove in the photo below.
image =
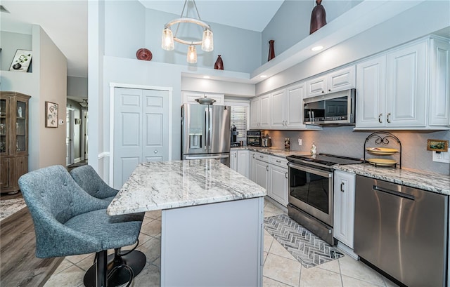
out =
{"type": "Polygon", "coordinates": [[[369,163],[349,164],[345,166],[336,165],[333,167],[340,171],[356,173],[357,175],[363,175],[368,178],[376,178],[399,185],[450,195],[450,175],[418,171],[412,168],[375,167],[369,163]]]}

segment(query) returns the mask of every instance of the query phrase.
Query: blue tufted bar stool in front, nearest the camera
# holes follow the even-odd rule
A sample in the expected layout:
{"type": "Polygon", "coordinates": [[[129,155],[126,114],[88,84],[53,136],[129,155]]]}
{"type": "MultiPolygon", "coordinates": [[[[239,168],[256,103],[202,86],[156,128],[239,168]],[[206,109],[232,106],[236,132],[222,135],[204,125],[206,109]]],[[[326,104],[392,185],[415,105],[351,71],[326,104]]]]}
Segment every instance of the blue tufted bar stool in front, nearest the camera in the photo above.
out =
{"type": "MultiPolygon", "coordinates": [[[[109,216],[108,203],[86,193],[63,166],[19,178],[36,233],[37,258],[96,253],[96,286],[107,286],[108,249],[136,243],[141,215],[109,216]]],[[[133,279],[129,270],[129,283],[133,279]]]]}

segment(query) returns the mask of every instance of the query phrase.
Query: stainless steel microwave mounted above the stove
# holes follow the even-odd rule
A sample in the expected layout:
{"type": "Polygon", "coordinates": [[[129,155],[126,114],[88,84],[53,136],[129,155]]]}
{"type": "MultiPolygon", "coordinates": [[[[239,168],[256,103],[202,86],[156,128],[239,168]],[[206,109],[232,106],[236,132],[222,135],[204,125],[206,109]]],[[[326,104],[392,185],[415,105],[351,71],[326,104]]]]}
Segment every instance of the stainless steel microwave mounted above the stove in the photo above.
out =
{"type": "Polygon", "coordinates": [[[354,88],[303,99],[304,124],[354,125],[354,88]]]}

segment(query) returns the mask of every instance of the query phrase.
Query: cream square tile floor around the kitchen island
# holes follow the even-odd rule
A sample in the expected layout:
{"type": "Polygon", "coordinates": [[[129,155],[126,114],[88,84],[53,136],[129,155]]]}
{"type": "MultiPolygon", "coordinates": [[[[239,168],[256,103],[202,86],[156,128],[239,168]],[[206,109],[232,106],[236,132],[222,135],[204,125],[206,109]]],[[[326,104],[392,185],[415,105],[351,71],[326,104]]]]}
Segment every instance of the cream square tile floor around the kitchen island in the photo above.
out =
{"type": "MultiPolygon", "coordinates": [[[[273,203],[264,201],[264,217],[283,213],[273,203]]],[[[147,263],[132,286],[160,285],[161,212],[146,213],[138,250],[146,254],[147,263]]],[[[81,287],[84,272],[93,264],[94,254],[66,257],[44,287],[81,287]]],[[[396,284],[373,271],[349,255],[316,267],[305,268],[288,251],[264,230],[264,287],[350,287],[383,286],[396,284]]]]}

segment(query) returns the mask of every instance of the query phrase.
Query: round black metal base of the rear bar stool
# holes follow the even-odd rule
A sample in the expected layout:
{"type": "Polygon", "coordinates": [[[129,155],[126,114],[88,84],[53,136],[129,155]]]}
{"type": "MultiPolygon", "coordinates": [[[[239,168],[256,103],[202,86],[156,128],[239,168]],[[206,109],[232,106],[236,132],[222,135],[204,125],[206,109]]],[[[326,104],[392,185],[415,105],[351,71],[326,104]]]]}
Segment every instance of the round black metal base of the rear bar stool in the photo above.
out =
{"type": "MultiPolygon", "coordinates": [[[[146,266],[146,255],[144,255],[141,251],[131,251],[127,253],[127,251],[123,251],[123,253],[127,253],[125,255],[117,254],[120,253],[120,249],[116,249],[114,254],[108,255],[108,263],[107,270],[108,274],[111,269],[118,265],[128,265],[133,269],[134,276],[136,277],[139,274],[143,267],[146,266]]],[[[108,287],[115,287],[123,285],[129,281],[129,272],[127,269],[119,268],[116,272],[114,272],[113,276],[108,279],[108,287]]],[[[96,265],[92,265],[84,274],[84,286],[86,287],[96,287],[96,265]]]]}

